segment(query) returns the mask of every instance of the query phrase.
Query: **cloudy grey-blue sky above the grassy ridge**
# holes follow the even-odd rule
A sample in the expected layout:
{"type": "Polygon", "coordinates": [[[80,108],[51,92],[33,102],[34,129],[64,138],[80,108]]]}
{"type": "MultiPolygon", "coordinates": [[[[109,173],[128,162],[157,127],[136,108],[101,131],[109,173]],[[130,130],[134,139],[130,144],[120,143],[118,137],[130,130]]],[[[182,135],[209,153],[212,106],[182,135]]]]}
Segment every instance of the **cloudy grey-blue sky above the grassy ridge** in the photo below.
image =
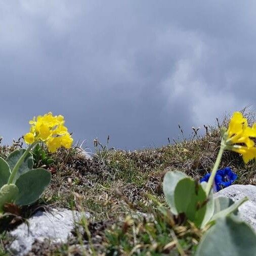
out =
{"type": "Polygon", "coordinates": [[[0,136],[65,116],[75,142],[159,147],[255,108],[255,1],[1,1],[0,136]]]}

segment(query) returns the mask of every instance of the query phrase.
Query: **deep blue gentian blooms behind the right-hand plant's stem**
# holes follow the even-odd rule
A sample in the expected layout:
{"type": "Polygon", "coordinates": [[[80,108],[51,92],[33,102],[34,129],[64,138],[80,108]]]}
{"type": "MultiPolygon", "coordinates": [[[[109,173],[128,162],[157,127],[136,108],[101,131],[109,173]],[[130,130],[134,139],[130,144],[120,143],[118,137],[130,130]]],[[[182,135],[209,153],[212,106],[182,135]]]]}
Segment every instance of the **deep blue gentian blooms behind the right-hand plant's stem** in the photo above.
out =
{"type": "MultiPolygon", "coordinates": [[[[201,180],[201,182],[208,182],[210,174],[206,174],[201,180]]],[[[237,179],[237,175],[229,167],[225,169],[217,170],[215,175],[215,190],[219,191],[223,188],[230,186],[237,179]]]]}

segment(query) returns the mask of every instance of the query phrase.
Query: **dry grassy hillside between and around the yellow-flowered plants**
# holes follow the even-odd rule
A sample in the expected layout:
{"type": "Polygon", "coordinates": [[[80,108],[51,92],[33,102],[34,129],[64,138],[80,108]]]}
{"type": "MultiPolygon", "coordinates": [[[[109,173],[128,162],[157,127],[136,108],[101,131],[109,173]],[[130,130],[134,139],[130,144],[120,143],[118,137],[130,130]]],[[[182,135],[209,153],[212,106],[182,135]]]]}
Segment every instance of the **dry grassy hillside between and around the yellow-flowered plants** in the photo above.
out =
{"type": "MultiPolygon", "coordinates": [[[[254,121],[253,113],[245,115],[249,122],[254,121]]],[[[226,120],[228,117],[221,125],[226,125],[226,120]]],[[[29,255],[82,255],[94,251],[96,255],[104,251],[108,255],[193,253],[201,231],[185,223],[182,216],[176,219],[170,215],[165,208],[162,179],[167,170],[178,169],[196,179],[210,172],[220,146],[220,129],[217,125],[205,131],[191,140],[133,152],[108,149],[96,141],[91,159],[79,147],[50,154],[41,146],[46,157],[54,160],[45,166],[52,173],[52,183],[38,203],[15,209],[14,213],[28,218],[38,208],[60,206],[88,211],[91,218],[74,230],[75,239],[57,245],[37,243],[29,255]],[[77,249],[75,244],[86,247],[77,249]]],[[[6,158],[21,146],[20,141],[1,146],[0,156],[6,158]]],[[[41,165],[44,163],[39,157],[35,167],[41,165]]],[[[245,165],[239,154],[225,152],[220,167],[226,166],[238,175],[237,184],[256,185],[253,161],[245,165]]],[[[12,215],[1,219],[0,255],[5,255],[10,242],[6,231],[20,222],[21,218],[12,215]]]]}

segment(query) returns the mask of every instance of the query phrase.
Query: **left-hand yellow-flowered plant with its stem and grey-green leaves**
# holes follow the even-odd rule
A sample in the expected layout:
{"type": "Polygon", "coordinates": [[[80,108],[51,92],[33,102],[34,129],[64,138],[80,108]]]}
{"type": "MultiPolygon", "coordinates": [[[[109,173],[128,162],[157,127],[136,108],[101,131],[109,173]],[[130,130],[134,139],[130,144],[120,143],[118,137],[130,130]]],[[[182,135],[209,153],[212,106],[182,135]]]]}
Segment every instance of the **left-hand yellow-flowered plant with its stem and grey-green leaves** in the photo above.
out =
{"type": "Polygon", "coordinates": [[[70,148],[73,139],[64,126],[64,117],[53,116],[52,113],[37,116],[29,123],[30,132],[24,136],[27,149],[15,150],[6,160],[0,158],[0,213],[3,213],[6,203],[29,205],[38,200],[51,182],[51,173],[43,168],[32,169],[31,150],[36,156],[43,156],[49,161],[44,151],[38,148],[38,143],[46,143],[51,152],[63,146],[70,148]]]}

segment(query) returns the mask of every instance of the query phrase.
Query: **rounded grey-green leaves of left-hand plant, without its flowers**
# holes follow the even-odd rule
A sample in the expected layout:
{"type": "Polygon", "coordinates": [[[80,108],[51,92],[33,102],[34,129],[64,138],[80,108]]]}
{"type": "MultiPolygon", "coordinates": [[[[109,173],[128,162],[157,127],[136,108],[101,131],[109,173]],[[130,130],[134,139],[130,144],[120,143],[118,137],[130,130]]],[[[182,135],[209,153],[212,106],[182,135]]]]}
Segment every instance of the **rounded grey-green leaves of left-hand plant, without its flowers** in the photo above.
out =
{"type": "Polygon", "coordinates": [[[5,160],[0,157],[0,213],[6,203],[29,205],[38,200],[51,182],[51,173],[43,168],[33,169],[32,154],[29,153],[19,165],[12,182],[9,178],[25,149],[13,151],[5,160]]]}

